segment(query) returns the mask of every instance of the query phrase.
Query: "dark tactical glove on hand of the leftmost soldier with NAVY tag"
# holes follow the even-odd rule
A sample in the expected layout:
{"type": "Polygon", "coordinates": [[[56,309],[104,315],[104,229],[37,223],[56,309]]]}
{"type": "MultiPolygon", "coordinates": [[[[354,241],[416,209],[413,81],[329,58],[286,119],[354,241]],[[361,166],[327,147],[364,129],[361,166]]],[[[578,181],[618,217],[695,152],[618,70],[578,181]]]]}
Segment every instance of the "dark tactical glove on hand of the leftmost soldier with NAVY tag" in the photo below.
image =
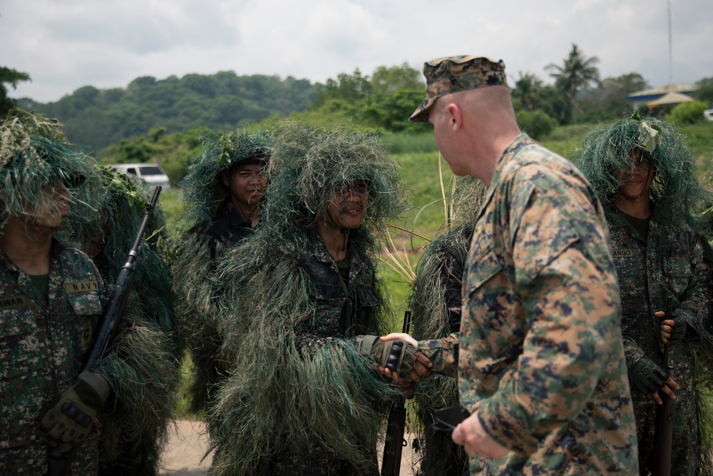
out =
{"type": "Polygon", "coordinates": [[[49,402],[49,410],[42,417],[49,444],[68,452],[83,442],[109,393],[111,388],[98,375],[81,373],[77,383],[49,402]]]}

